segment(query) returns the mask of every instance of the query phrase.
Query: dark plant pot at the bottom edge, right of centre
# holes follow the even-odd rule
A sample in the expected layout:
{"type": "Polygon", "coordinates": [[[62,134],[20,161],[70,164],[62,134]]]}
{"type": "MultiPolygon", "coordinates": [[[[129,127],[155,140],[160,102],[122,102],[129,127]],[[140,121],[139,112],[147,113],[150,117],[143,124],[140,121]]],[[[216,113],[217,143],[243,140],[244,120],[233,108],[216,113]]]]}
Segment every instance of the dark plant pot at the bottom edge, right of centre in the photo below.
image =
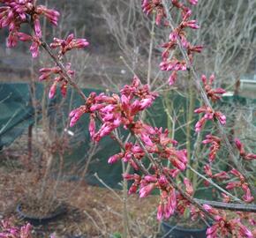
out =
{"type": "Polygon", "coordinates": [[[163,221],[162,233],[164,238],[206,238],[207,227],[200,229],[183,228],[163,221]]]}

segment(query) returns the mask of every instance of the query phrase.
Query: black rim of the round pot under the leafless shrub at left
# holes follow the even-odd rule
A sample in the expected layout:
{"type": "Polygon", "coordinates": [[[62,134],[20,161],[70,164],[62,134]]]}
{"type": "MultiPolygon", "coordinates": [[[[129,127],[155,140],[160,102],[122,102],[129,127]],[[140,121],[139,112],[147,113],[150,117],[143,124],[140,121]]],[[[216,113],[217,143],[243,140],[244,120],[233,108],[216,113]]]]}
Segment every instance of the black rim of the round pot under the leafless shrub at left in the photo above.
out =
{"type": "Polygon", "coordinates": [[[16,207],[16,212],[18,212],[19,217],[22,219],[25,219],[33,226],[40,226],[40,225],[46,225],[49,221],[59,218],[66,212],[66,208],[64,206],[59,206],[56,211],[50,215],[46,215],[43,217],[36,217],[30,214],[26,214],[25,212],[22,212],[22,205],[19,204],[16,207]]]}

